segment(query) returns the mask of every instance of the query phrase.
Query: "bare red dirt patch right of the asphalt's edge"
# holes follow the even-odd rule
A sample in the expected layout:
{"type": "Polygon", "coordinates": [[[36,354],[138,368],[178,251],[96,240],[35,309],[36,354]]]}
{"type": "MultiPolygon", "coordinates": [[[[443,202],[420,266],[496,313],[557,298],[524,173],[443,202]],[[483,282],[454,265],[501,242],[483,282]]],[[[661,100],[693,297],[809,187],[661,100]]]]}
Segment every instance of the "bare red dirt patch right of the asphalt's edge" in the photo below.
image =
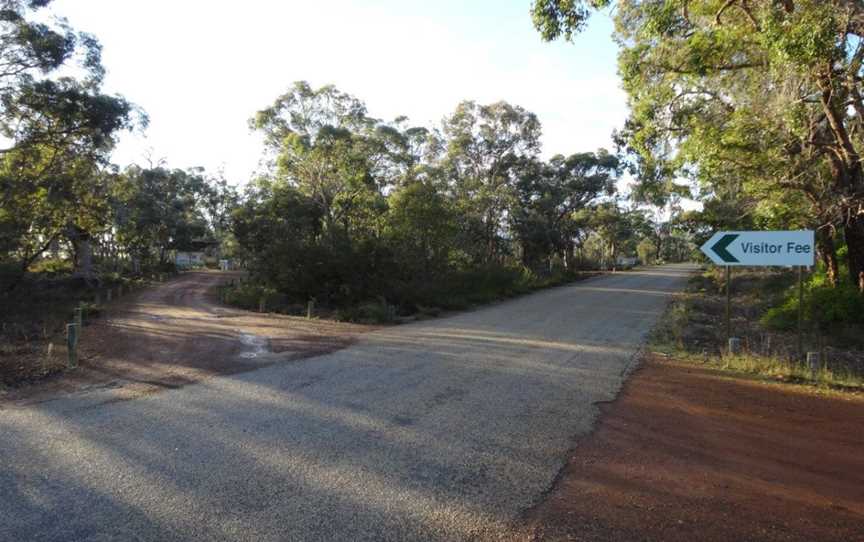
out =
{"type": "Polygon", "coordinates": [[[531,540],[864,541],[864,399],[648,359],[531,540]]]}

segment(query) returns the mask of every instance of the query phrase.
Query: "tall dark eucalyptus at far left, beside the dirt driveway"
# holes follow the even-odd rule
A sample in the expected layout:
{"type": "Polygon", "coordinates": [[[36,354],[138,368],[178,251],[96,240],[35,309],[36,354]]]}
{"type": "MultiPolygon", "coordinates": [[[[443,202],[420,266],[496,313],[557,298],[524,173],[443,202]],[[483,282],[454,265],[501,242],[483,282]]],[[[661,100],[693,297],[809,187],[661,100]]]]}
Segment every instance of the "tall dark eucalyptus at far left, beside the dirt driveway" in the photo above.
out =
{"type": "Polygon", "coordinates": [[[117,132],[145,119],[101,92],[99,43],[40,13],[50,3],[0,5],[0,260],[23,272],[65,237],[90,276],[99,169],[117,132]]]}

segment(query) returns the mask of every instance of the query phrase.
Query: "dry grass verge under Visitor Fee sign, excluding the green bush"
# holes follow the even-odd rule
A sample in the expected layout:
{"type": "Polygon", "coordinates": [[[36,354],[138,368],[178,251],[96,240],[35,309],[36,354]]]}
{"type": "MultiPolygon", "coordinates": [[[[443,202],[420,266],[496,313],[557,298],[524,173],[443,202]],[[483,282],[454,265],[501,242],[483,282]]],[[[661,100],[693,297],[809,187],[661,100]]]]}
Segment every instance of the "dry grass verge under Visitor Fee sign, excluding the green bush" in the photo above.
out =
{"type": "Polygon", "coordinates": [[[687,291],[670,304],[654,330],[652,348],[667,356],[717,369],[780,382],[840,390],[864,390],[864,335],[836,329],[807,329],[804,351],[818,352],[811,368],[798,353],[795,332],[765,329],[762,314],[782,299],[794,283],[790,271],[736,271],[732,286],[732,334],[742,340],[742,353],[725,351],[725,294],[721,275],[707,271],[694,277],[687,291]]]}

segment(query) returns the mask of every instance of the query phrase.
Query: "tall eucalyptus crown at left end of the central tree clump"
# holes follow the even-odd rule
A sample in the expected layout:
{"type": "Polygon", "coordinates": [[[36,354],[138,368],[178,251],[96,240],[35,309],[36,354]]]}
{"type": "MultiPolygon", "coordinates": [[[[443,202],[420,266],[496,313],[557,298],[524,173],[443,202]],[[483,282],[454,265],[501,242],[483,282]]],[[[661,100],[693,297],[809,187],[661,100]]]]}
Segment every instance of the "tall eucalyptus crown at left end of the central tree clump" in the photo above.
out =
{"type": "Polygon", "coordinates": [[[333,86],[295,83],[251,126],[264,134],[275,178],[321,211],[331,246],[377,229],[382,192],[395,183],[407,148],[398,130],[367,115],[357,98],[333,86]]]}

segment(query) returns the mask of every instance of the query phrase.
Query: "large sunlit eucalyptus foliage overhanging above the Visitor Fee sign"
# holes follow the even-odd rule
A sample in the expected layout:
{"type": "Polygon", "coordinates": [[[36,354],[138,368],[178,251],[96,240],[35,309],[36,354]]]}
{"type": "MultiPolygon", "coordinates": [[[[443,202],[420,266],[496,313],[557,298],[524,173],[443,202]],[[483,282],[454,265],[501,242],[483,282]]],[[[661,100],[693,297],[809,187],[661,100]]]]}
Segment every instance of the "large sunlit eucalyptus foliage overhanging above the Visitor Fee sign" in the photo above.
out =
{"type": "MultiPolygon", "coordinates": [[[[632,111],[622,138],[640,181],[686,176],[709,193],[736,183],[757,214],[799,193],[808,225],[843,233],[850,279],[864,291],[864,4],[536,0],[532,9],[545,39],[569,39],[592,8],[611,5],[632,111]]],[[[820,236],[829,262],[831,240],[820,236]]]]}

